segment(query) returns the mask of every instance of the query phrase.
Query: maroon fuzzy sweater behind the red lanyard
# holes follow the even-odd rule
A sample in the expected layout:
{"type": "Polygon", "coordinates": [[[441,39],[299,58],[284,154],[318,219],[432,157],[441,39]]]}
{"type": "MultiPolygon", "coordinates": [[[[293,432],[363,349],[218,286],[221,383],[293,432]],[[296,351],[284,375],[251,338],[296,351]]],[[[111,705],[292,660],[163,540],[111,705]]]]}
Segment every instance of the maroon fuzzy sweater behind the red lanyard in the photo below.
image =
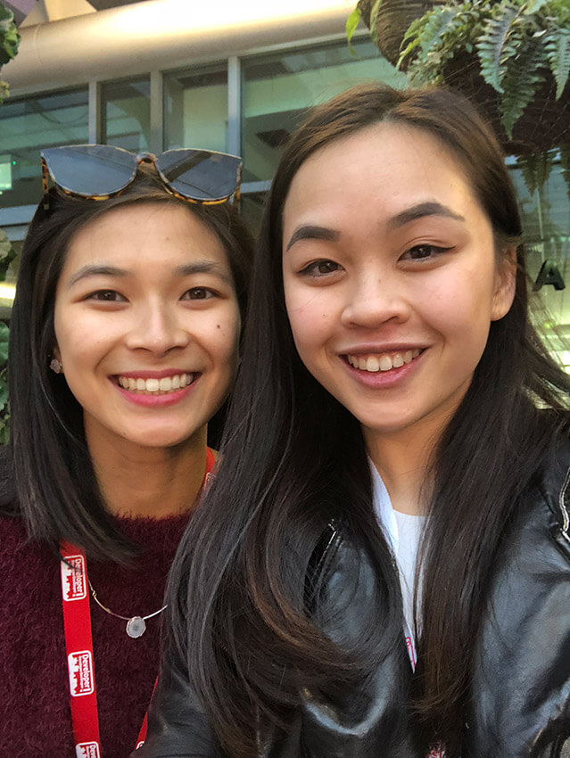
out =
{"type": "MultiPolygon", "coordinates": [[[[130,568],[87,562],[89,579],[115,613],[152,614],[188,516],[117,521],[144,553],[130,568]]],[[[161,615],[131,639],[92,599],[91,622],[103,758],[126,758],[153,692],[161,615]]],[[[0,518],[0,758],[74,756],[59,561],[20,519],[0,518]]]]}

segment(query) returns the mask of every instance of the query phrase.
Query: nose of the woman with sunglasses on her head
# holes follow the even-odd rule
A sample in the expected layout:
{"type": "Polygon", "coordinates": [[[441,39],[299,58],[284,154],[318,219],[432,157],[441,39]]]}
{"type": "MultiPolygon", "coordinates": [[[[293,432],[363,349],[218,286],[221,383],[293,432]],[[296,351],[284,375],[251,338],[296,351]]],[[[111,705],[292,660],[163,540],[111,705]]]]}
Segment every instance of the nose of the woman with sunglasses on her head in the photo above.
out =
{"type": "Polygon", "coordinates": [[[184,348],[189,341],[190,335],[178,316],[176,305],[158,301],[146,302],[136,309],[126,340],[130,350],[149,350],[157,356],[166,355],[174,348],[184,348]]]}

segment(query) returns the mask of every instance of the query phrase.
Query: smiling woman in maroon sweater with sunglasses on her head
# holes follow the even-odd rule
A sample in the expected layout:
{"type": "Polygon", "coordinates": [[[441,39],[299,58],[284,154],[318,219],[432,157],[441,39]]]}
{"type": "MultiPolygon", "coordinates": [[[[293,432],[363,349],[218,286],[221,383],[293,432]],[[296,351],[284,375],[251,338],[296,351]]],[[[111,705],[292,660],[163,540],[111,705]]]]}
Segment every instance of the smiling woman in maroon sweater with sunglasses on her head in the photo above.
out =
{"type": "Polygon", "coordinates": [[[145,736],[166,576],[237,366],[241,161],[76,145],[43,165],[11,318],[0,755],[124,758],[145,736]]]}

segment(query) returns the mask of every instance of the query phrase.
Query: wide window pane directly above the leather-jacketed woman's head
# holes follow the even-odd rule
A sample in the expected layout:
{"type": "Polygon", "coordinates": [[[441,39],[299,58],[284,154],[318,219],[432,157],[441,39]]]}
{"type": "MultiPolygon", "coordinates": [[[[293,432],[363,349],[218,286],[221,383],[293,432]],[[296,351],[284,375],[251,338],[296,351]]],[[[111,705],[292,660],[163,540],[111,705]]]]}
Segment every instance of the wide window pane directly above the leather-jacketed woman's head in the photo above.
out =
{"type": "Polygon", "coordinates": [[[273,176],[281,145],[310,106],[359,82],[405,87],[405,75],[394,70],[368,39],[353,47],[356,55],[340,40],[243,62],[244,182],[273,176]]]}

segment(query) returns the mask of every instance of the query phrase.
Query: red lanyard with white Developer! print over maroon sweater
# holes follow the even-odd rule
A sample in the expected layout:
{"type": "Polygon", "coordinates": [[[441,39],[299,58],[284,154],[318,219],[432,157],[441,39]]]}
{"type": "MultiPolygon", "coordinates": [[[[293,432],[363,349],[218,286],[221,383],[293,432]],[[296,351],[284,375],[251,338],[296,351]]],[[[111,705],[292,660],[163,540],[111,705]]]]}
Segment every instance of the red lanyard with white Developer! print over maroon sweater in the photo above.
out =
{"type": "MultiPolygon", "coordinates": [[[[206,472],[202,489],[208,483],[215,459],[206,451],[206,472]]],[[[65,649],[70,678],[70,710],[76,758],[101,758],[99,713],[95,690],[95,661],[91,635],[91,609],[87,582],[87,561],[81,548],[69,542],[60,544],[62,555],[62,611],[65,649]]],[[[147,714],[136,739],[145,742],[147,714]]]]}

